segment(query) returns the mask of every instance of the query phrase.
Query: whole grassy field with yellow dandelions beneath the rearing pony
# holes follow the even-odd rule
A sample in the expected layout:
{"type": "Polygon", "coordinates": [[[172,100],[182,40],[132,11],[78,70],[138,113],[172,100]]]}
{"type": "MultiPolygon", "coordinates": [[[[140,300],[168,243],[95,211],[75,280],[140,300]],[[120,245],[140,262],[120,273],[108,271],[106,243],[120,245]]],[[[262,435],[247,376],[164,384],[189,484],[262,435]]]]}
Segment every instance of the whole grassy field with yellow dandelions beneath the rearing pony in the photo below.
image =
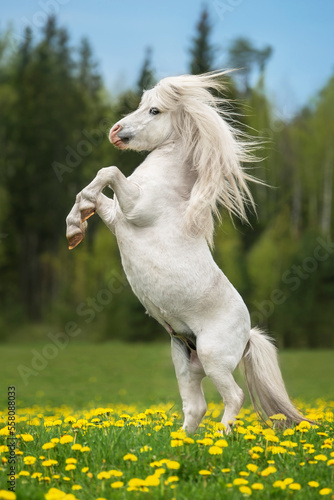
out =
{"type": "Polygon", "coordinates": [[[292,398],[317,426],[268,429],[246,406],[222,435],[223,406],[205,381],[209,411],[186,436],[168,344],[2,345],[0,499],[334,498],[333,360],[333,351],[280,354],[292,398]],[[6,482],[9,386],[14,496],[6,482]]]}

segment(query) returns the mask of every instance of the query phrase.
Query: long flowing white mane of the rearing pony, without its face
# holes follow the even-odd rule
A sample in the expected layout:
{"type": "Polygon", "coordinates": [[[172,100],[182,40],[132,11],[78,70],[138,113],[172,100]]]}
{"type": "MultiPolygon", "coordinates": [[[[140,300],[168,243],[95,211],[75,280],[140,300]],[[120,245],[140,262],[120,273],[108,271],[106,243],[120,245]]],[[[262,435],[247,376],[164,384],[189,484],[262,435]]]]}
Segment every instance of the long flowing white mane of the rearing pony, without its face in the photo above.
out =
{"type": "Polygon", "coordinates": [[[192,235],[204,234],[210,245],[213,217],[220,219],[219,205],[247,221],[246,205],[255,208],[247,181],[258,182],[242,166],[256,161],[252,151],[257,144],[227,121],[228,101],[212,93],[225,90],[223,74],[169,77],[150,91],[162,111],[173,111],[173,128],[182,139],[190,168],[197,173],[185,214],[186,229],[192,235]]]}

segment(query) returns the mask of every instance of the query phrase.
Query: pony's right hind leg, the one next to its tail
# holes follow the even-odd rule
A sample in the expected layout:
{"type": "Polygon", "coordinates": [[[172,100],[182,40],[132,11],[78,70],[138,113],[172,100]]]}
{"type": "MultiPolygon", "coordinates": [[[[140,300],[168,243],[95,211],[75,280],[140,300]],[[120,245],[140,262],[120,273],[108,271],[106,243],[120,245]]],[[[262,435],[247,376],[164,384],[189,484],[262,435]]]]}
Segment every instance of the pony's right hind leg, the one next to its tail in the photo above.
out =
{"type": "MultiPolygon", "coordinates": [[[[233,342],[236,343],[235,338],[233,342]]],[[[243,390],[232,375],[240,362],[243,349],[243,347],[238,349],[235,345],[232,348],[232,344],[226,342],[221,334],[205,335],[197,340],[197,352],[205,373],[212,380],[224,401],[225,411],[222,423],[225,425],[226,432],[230,431],[230,426],[235,421],[245,399],[243,390]]]]}

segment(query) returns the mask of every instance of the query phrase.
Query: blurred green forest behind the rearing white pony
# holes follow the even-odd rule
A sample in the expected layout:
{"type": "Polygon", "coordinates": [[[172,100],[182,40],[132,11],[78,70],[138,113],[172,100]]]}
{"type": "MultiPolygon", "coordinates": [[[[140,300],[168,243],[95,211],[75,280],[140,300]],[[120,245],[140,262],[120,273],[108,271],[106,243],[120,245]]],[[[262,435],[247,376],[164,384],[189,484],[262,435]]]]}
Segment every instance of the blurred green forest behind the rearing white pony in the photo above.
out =
{"type": "MultiPolygon", "coordinates": [[[[190,73],[217,69],[211,30],[203,9],[190,73]]],[[[27,28],[20,44],[12,38],[10,30],[0,34],[0,341],[62,333],[92,341],[168,338],[131,292],[115,238],[98,217],[76,250],[68,251],[65,238],[75,195],[96,172],[117,165],[129,175],[145,157],[116,150],[107,134],[154,85],[151,49],[136,88],[112,96],[88,40],[73,48],[54,17],[39,37],[27,28]]],[[[224,97],[238,126],[262,139],[263,160],[252,173],[270,187],[251,186],[257,216],[249,214],[249,226],[222,214],[214,256],[253,325],[280,346],[334,347],[334,75],[285,120],[266,92],[271,54],[244,38],[226,48],[226,67],[244,69],[226,77],[224,97]]]]}

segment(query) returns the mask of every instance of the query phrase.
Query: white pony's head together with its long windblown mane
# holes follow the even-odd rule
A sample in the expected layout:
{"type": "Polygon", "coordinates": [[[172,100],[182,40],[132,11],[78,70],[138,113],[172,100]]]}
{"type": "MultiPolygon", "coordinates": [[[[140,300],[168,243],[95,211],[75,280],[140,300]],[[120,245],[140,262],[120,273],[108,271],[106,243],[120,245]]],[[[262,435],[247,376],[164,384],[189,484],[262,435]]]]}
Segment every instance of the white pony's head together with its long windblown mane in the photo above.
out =
{"type": "Polygon", "coordinates": [[[247,221],[246,205],[254,208],[247,181],[257,182],[242,164],[256,161],[252,151],[258,144],[231,125],[227,100],[217,97],[225,90],[226,73],[162,79],[143,93],[138,109],[117,122],[109,136],[118,148],[138,151],[178,142],[196,174],[185,212],[186,229],[194,236],[204,234],[209,244],[218,205],[247,221]]]}

